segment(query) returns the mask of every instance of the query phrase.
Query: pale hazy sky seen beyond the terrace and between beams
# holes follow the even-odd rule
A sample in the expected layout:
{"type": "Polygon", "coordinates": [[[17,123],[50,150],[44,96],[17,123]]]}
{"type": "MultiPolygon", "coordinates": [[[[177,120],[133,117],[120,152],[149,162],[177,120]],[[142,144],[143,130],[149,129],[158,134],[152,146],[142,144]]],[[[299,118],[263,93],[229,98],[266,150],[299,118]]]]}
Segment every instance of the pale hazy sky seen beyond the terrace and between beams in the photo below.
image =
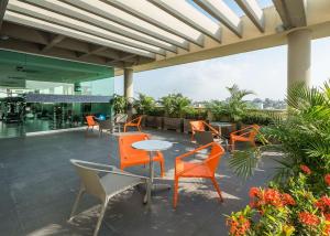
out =
{"type": "MultiPolygon", "coordinates": [[[[237,14],[242,14],[233,0],[224,0],[237,14]]],[[[262,8],[271,0],[260,0],[262,8]]],[[[320,86],[330,78],[330,37],[311,43],[311,85],[320,86]]],[[[256,95],[246,99],[284,99],[287,77],[287,46],[277,46],[226,57],[188,63],[148,72],[134,73],[134,96],[139,93],[154,98],[182,93],[193,100],[226,99],[226,87],[238,84],[256,95]]],[[[114,93],[123,94],[123,77],[114,79],[114,93]]]]}

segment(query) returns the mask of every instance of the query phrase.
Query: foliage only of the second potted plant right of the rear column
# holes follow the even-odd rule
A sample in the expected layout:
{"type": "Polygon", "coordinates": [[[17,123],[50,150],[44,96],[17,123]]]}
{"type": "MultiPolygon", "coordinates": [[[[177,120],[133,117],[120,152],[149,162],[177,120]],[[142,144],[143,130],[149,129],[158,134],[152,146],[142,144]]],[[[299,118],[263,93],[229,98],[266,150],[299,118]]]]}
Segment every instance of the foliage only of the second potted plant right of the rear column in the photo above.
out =
{"type": "Polygon", "coordinates": [[[182,94],[169,94],[161,98],[165,115],[169,117],[183,118],[185,109],[191,104],[191,100],[182,94]]]}

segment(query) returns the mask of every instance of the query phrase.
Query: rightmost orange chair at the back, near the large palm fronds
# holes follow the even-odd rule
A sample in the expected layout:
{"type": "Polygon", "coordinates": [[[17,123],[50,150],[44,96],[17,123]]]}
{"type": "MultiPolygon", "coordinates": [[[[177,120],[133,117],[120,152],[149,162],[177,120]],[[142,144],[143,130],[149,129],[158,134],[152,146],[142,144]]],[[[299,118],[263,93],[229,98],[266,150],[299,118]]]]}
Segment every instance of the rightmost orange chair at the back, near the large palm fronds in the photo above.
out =
{"type": "Polygon", "coordinates": [[[230,133],[230,146],[231,150],[235,149],[235,142],[250,142],[252,146],[255,147],[255,137],[260,130],[260,126],[252,125],[248,126],[244,129],[237,130],[230,133]]]}

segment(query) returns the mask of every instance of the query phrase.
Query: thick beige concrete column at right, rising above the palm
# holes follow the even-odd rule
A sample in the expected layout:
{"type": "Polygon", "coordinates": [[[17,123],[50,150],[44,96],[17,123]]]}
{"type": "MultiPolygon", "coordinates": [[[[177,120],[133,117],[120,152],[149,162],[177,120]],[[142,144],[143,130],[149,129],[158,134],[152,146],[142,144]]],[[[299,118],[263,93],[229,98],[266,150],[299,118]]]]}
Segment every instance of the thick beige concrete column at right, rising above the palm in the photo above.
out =
{"type": "Polygon", "coordinates": [[[296,30],[287,35],[287,87],[297,83],[310,86],[310,43],[311,31],[308,29],[296,30]]]}

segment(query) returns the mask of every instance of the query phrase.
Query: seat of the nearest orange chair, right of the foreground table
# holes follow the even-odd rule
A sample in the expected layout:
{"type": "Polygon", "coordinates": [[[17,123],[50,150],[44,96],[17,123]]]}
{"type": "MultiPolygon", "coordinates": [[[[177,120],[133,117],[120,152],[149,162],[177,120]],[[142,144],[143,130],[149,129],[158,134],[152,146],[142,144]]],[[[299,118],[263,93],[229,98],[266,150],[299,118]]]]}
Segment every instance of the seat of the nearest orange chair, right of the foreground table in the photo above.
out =
{"type": "Polygon", "coordinates": [[[177,164],[178,178],[212,178],[213,173],[204,163],[182,161],[177,164]]]}

